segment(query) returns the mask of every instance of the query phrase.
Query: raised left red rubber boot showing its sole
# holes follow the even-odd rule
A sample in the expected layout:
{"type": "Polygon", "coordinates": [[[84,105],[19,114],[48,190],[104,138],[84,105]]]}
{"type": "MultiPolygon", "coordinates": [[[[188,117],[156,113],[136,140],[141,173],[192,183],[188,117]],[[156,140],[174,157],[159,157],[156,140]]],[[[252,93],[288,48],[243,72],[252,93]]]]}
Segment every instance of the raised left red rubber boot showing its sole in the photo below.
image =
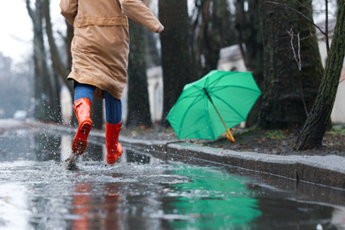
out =
{"type": "Polygon", "coordinates": [[[83,97],[76,100],[73,104],[75,116],[77,116],[79,127],[77,134],[74,136],[72,151],[75,155],[80,156],[85,152],[88,146],[88,134],[92,128],[91,102],[88,98],[83,97]]]}

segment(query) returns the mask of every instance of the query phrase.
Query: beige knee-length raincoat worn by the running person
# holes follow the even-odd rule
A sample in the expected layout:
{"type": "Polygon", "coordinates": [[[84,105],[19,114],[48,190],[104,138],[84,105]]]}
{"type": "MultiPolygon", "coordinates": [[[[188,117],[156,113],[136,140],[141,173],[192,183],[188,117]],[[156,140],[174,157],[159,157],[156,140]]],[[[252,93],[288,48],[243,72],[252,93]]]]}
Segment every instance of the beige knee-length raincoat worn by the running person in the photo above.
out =
{"type": "Polygon", "coordinates": [[[156,32],[161,25],[139,0],[61,0],[61,14],[74,27],[73,67],[68,80],[96,86],[120,99],[126,85],[128,19],[156,32]]]}

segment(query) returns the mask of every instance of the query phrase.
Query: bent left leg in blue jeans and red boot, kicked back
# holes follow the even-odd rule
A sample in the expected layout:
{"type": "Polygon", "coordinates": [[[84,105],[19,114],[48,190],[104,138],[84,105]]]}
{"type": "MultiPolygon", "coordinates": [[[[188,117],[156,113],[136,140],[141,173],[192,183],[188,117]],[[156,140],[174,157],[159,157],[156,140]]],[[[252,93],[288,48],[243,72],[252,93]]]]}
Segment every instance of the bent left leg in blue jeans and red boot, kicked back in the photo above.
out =
{"type": "Polygon", "coordinates": [[[95,88],[95,86],[75,82],[73,109],[79,127],[73,139],[72,151],[77,156],[83,154],[88,146],[88,134],[92,128],[91,102],[95,88]]]}

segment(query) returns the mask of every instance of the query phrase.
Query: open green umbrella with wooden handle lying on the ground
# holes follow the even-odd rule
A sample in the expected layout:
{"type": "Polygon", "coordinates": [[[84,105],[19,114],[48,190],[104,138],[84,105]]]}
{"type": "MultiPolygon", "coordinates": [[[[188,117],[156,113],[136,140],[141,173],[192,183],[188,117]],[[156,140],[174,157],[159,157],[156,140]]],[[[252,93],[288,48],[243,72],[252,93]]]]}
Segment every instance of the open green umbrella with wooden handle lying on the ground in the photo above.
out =
{"type": "Polygon", "coordinates": [[[213,70],[183,88],[166,119],[179,139],[216,140],[226,132],[234,142],[228,127],[246,120],[260,95],[250,72],[213,70]]]}

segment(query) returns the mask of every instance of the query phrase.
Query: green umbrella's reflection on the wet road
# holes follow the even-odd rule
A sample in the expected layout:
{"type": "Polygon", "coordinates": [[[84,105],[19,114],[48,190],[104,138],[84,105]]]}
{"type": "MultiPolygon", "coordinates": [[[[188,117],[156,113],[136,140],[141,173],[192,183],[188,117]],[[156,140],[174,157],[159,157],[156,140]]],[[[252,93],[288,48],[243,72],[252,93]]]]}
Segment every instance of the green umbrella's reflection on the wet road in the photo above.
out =
{"type": "Polygon", "coordinates": [[[173,229],[249,229],[261,216],[255,192],[246,187],[249,178],[226,173],[217,167],[178,165],[174,174],[190,182],[173,184],[165,215],[173,229]]]}

